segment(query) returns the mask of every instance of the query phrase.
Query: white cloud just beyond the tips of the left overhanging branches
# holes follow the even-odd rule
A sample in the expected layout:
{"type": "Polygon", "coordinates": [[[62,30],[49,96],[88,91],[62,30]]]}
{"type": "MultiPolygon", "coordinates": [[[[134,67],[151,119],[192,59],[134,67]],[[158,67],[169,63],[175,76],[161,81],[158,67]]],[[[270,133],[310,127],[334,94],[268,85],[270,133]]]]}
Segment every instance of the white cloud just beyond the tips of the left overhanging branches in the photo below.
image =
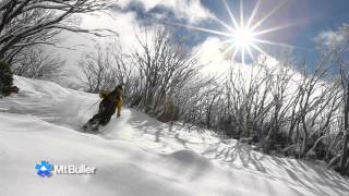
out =
{"type": "MultiPolygon", "coordinates": [[[[130,54],[131,49],[136,49],[139,47],[135,34],[141,29],[141,25],[137,22],[134,12],[99,12],[91,15],[82,15],[80,20],[80,27],[82,28],[108,28],[117,32],[119,36],[96,37],[88,34],[62,32],[60,34],[60,38],[62,39],[60,46],[73,48],[74,50],[52,48],[67,61],[64,70],[72,76],[60,82],[61,85],[80,83],[77,77],[82,75],[82,72],[79,62],[82,60],[84,53],[96,51],[96,44],[106,47],[106,44],[108,42],[118,41],[122,47],[123,52],[128,54],[130,54]]],[[[149,34],[152,34],[152,32],[149,34]]]]}

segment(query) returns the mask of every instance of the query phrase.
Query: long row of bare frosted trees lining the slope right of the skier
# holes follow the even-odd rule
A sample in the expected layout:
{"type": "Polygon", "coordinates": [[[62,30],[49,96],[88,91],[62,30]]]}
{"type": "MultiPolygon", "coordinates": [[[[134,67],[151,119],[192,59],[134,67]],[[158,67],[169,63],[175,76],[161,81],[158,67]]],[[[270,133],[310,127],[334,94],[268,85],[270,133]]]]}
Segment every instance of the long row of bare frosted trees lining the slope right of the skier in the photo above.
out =
{"type": "Polygon", "coordinates": [[[322,160],[348,174],[348,44],[318,40],[311,68],[288,56],[276,64],[265,57],[232,63],[218,78],[202,74],[197,53],[170,30],[159,27],[152,36],[136,35],[141,47],[131,57],[113,44],[84,58],[88,91],[124,84],[128,105],[160,121],[209,128],[265,154],[322,160]]]}

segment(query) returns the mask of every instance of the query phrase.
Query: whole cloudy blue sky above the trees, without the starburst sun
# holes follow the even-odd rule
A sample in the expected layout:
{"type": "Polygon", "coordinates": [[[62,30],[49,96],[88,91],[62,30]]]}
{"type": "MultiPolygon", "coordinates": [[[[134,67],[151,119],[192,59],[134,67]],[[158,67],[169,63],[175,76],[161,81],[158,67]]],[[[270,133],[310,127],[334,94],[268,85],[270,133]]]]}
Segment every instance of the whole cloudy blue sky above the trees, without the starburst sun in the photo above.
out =
{"type": "MultiPolygon", "coordinates": [[[[238,23],[241,21],[241,2],[244,23],[257,4],[257,0],[226,0],[226,2],[238,23]]],[[[286,50],[291,51],[294,59],[305,57],[309,64],[316,62],[316,37],[330,38],[339,26],[349,23],[348,0],[261,0],[257,8],[251,26],[269,16],[263,20],[255,32],[280,27],[257,38],[281,46],[261,42],[255,45],[274,58],[286,50]]],[[[166,25],[174,30],[177,37],[184,36],[189,47],[198,49],[202,63],[209,64],[210,70],[216,70],[217,66],[219,69],[229,66],[224,62],[226,56],[221,54],[225,50],[221,41],[229,37],[192,29],[200,27],[227,33],[228,28],[221,25],[221,22],[233,27],[224,0],[118,0],[108,13],[84,15],[80,25],[83,28],[113,29],[119,34],[116,39],[125,52],[131,52],[130,48],[136,47],[134,35],[140,32],[141,26],[152,29],[158,24],[166,25]],[[219,23],[216,19],[221,22],[219,23]]],[[[70,33],[63,34],[62,37],[63,46],[76,49],[75,51],[62,50],[70,68],[76,68],[82,53],[94,51],[96,42],[104,45],[113,39],[70,33]]],[[[258,56],[257,50],[254,48],[251,50],[254,57],[258,56]]],[[[230,54],[232,53],[231,51],[230,54]]],[[[242,60],[239,57],[239,54],[236,57],[237,61],[242,60]]],[[[250,56],[246,56],[246,59],[251,59],[250,56]]]]}

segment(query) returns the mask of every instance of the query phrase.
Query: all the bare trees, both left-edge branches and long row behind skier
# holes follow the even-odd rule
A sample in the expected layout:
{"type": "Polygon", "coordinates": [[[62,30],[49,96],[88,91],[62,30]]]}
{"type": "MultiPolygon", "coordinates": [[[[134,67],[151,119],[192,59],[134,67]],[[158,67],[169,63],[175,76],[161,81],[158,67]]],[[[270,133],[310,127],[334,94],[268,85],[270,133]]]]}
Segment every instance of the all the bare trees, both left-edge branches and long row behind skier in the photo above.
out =
{"type": "MultiPolygon", "coordinates": [[[[108,8],[95,0],[3,0],[0,2],[0,90],[12,72],[35,78],[63,75],[64,61],[43,46],[57,46],[62,30],[101,36],[76,25],[75,14],[108,8]]],[[[80,61],[86,91],[124,87],[124,100],[163,122],[209,128],[224,138],[248,142],[269,155],[322,160],[349,174],[349,27],[340,42],[318,40],[314,64],[291,57],[250,65],[231,62],[216,77],[202,72],[200,53],[158,26],[141,30],[124,53],[116,42],[97,45],[80,61]]]]}

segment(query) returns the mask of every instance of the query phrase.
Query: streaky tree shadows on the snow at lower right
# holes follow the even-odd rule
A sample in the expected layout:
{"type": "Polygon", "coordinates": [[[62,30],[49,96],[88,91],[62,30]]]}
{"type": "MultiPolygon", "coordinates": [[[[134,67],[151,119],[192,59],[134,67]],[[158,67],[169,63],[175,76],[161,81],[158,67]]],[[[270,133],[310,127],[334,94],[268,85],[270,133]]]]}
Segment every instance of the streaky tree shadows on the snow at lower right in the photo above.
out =
{"type": "Polygon", "coordinates": [[[231,163],[230,166],[236,169],[252,169],[275,181],[303,187],[315,195],[332,196],[349,193],[349,181],[330,170],[302,160],[266,156],[252,150],[250,145],[239,140],[231,145],[210,145],[203,155],[224,163],[231,163]]]}

